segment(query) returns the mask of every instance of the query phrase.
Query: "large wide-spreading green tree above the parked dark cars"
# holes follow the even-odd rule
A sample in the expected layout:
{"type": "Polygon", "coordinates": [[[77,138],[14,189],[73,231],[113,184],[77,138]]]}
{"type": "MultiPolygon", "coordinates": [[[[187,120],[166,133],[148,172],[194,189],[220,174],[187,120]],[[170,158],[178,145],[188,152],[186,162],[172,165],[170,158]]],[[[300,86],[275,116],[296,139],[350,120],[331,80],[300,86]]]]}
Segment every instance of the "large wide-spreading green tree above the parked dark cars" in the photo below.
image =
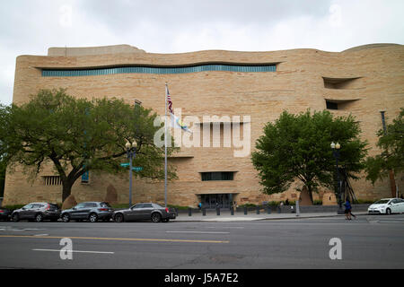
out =
{"type": "MultiPolygon", "coordinates": [[[[62,200],[75,180],[88,170],[119,173],[126,159],[125,143],[136,140],[141,178],[164,178],[164,149],[154,145],[157,115],[151,109],[131,107],[118,99],[76,99],[66,90],[41,90],[18,107],[0,109],[0,152],[8,170],[20,163],[36,177],[51,163],[62,182],[62,200]]],[[[168,149],[169,153],[174,149],[168,149]]],[[[176,178],[170,167],[168,178],[176,178]]]]}

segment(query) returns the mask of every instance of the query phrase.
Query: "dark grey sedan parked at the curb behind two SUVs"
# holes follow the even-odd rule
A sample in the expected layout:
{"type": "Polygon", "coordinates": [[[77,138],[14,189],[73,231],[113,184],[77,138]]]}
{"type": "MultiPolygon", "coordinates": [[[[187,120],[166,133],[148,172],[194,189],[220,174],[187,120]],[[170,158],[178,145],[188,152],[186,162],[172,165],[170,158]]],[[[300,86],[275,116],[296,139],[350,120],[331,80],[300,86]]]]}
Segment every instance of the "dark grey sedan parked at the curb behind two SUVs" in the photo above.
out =
{"type": "Polygon", "coordinates": [[[115,211],[113,220],[115,222],[132,222],[151,220],[152,222],[169,222],[177,217],[174,208],[162,207],[159,204],[141,203],[135,204],[128,209],[115,211]]]}

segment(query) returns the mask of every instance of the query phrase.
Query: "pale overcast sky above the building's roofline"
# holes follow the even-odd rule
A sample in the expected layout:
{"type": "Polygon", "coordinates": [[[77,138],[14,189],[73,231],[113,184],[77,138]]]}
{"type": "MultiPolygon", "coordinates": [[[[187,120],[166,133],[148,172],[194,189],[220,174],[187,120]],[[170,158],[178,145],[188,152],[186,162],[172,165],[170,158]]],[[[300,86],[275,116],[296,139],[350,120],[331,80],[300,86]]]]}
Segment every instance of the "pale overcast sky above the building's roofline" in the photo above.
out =
{"type": "Polygon", "coordinates": [[[404,0],[2,1],[0,103],[13,100],[15,58],[49,47],[338,52],[371,43],[404,44],[404,0]]]}

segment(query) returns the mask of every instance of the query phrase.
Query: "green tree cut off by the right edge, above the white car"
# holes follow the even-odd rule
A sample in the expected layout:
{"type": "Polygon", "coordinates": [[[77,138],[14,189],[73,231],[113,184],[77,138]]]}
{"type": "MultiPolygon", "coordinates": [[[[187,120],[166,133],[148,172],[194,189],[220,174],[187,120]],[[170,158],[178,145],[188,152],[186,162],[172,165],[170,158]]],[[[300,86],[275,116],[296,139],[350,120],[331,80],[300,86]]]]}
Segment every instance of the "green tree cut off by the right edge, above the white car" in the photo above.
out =
{"type": "Polygon", "coordinates": [[[366,159],[366,179],[372,184],[378,179],[386,178],[392,174],[399,174],[404,170],[404,109],[400,109],[398,117],[393,119],[391,125],[386,126],[386,132],[380,129],[377,132],[379,140],[377,146],[382,149],[380,154],[366,159]]]}

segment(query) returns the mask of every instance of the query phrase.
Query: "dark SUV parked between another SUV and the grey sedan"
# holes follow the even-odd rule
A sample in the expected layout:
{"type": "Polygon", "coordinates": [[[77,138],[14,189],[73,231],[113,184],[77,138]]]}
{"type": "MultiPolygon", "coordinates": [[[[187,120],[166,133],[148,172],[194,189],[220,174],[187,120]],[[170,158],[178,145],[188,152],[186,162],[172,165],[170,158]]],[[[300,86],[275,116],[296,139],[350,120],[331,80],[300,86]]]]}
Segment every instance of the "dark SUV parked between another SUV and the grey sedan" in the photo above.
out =
{"type": "Polygon", "coordinates": [[[106,202],[86,202],[62,211],[60,217],[62,222],[70,222],[70,220],[89,222],[103,220],[107,222],[110,221],[113,212],[114,210],[110,207],[110,204],[106,202]]]}

